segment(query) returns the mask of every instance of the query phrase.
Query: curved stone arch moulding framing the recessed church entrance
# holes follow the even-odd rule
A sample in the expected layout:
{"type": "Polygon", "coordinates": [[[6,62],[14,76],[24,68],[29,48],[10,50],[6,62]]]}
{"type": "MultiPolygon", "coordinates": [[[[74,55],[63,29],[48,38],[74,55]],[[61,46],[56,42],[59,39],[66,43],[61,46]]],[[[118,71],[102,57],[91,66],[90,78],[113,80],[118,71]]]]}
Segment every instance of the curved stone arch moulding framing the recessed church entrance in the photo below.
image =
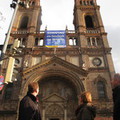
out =
{"type": "Polygon", "coordinates": [[[27,78],[25,78],[25,81],[22,83],[22,88],[21,88],[21,96],[24,96],[27,92],[27,86],[30,82],[36,81],[36,82],[40,82],[43,78],[45,77],[49,77],[49,76],[64,76],[65,78],[67,78],[69,81],[71,81],[76,89],[77,89],[77,93],[80,94],[80,92],[84,91],[84,84],[82,82],[82,80],[84,79],[84,76],[79,76],[75,73],[69,72],[69,71],[65,71],[65,70],[55,70],[55,69],[50,69],[50,70],[46,70],[46,71],[39,71],[39,73],[37,71],[35,71],[34,73],[30,73],[30,76],[28,76],[27,78]]]}

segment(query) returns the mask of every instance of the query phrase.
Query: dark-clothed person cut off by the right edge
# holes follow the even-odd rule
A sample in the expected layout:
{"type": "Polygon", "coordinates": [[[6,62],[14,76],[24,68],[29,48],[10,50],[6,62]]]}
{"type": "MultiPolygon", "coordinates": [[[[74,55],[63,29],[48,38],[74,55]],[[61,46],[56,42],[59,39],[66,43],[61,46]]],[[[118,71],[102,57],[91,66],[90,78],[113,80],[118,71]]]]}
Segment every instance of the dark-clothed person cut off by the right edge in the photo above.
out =
{"type": "Polygon", "coordinates": [[[113,120],[120,120],[120,74],[115,74],[112,81],[113,87],[113,120]]]}

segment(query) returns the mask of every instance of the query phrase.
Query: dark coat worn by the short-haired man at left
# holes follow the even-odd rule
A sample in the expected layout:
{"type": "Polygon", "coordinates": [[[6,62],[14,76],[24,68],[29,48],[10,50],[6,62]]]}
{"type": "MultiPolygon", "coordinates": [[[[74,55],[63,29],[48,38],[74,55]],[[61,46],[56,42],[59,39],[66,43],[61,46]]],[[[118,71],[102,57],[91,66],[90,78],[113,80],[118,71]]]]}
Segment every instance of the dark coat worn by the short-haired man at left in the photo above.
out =
{"type": "Polygon", "coordinates": [[[28,93],[20,101],[18,120],[41,120],[37,98],[34,95],[28,93]]]}

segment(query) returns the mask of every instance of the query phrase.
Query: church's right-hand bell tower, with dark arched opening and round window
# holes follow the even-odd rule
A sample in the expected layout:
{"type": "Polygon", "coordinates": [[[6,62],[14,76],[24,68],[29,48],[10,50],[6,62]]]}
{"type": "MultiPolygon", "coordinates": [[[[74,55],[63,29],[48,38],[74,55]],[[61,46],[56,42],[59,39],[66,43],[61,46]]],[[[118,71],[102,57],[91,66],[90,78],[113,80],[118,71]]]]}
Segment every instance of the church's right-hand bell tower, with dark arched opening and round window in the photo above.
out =
{"type": "Polygon", "coordinates": [[[86,90],[92,92],[98,111],[104,111],[112,103],[114,66],[97,0],[75,0],[73,23],[78,34],[82,61],[89,71],[86,90]],[[101,102],[104,107],[101,107],[101,102]]]}

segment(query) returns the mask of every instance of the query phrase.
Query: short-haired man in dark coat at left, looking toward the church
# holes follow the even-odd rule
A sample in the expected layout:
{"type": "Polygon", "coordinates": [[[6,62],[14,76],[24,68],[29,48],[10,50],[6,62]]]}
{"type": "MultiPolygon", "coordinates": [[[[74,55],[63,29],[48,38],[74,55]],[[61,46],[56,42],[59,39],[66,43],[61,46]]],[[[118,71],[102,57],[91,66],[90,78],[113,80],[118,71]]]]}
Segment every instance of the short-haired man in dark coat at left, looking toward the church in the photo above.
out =
{"type": "Polygon", "coordinates": [[[27,95],[20,101],[18,120],[41,120],[38,99],[36,97],[38,93],[38,83],[30,83],[27,95]]]}

